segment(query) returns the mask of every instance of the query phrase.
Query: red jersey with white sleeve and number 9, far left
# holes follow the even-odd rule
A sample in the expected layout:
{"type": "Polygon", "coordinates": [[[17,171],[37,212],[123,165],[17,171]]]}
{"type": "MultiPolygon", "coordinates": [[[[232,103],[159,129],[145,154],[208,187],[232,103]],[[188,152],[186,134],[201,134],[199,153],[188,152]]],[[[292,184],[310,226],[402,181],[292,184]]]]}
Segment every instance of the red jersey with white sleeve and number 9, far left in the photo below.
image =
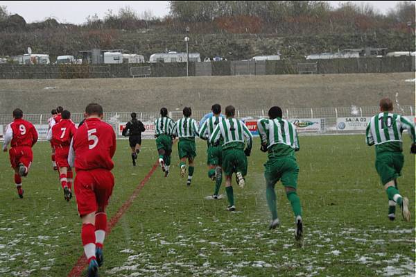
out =
{"type": "MultiPolygon", "coordinates": [[[[37,131],[31,122],[24,119],[15,119],[8,125],[6,136],[12,135],[10,146],[29,146],[32,147],[37,142],[37,131]]],[[[8,144],[5,138],[5,144],[8,144]]]]}

